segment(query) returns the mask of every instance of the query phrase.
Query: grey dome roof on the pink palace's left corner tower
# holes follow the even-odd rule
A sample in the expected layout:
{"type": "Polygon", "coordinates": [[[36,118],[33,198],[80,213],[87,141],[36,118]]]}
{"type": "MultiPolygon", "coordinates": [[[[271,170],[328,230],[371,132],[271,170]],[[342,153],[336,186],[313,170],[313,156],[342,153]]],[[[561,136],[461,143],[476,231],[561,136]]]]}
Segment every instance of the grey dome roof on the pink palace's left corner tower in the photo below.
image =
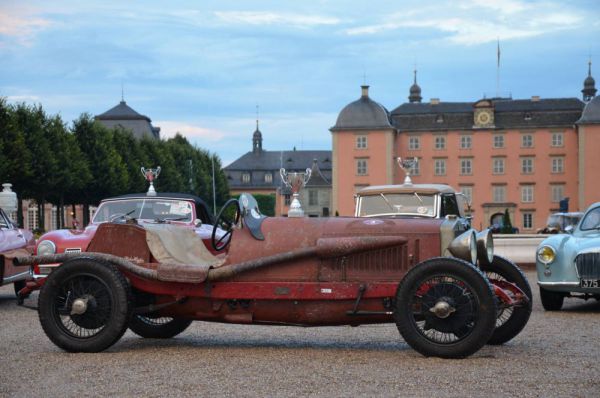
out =
{"type": "Polygon", "coordinates": [[[360,99],[349,103],[338,115],[331,130],[390,129],[390,114],[385,107],[369,98],[369,86],[362,87],[360,99]]]}

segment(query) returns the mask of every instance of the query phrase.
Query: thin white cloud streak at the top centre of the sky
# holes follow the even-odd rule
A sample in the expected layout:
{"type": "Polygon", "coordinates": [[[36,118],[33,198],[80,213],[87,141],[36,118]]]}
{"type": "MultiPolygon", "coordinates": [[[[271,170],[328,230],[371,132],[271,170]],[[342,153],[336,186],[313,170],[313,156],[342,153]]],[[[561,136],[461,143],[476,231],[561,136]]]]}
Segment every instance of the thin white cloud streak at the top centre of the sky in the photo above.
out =
{"type": "Polygon", "coordinates": [[[338,18],[321,15],[304,15],[275,13],[269,11],[216,11],[217,18],[228,23],[244,23],[249,25],[286,25],[310,27],[317,25],[338,25],[338,18]]]}

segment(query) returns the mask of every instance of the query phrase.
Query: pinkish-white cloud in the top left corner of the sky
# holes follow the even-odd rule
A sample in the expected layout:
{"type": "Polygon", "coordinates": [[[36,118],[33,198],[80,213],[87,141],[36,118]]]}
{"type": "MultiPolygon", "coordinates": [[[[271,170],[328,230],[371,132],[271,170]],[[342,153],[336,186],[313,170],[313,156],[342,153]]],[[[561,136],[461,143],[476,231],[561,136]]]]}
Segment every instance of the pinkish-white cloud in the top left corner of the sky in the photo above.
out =
{"type": "Polygon", "coordinates": [[[38,16],[38,10],[27,6],[0,5],[0,44],[2,36],[15,38],[20,45],[30,45],[33,37],[52,22],[38,16]]]}

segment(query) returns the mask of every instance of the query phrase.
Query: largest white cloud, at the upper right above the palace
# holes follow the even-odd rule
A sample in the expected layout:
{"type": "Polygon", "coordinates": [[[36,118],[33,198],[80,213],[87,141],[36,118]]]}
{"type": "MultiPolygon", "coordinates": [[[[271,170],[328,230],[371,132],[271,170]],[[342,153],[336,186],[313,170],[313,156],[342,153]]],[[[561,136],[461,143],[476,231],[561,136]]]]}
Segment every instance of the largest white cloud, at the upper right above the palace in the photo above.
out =
{"type": "Polygon", "coordinates": [[[500,39],[517,39],[581,26],[583,16],[559,3],[538,4],[520,0],[465,0],[395,13],[380,23],[346,29],[347,35],[374,35],[402,29],[441,32],[455,44],[477,45],[500,39]]]}

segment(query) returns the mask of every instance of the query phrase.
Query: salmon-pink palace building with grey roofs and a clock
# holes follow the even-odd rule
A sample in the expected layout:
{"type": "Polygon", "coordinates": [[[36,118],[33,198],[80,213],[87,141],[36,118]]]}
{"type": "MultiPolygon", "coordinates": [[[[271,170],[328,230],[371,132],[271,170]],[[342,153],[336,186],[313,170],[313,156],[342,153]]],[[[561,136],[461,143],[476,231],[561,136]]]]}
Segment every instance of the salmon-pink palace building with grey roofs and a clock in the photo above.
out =
{"type": "Polygon", "coordinates": [[[600,201],[600,96],[591,63],[579,98],[489,98],[409,102],[391,112],[361,97],[340,112],[332,133],[331,213],[352,215],[354,194],[369,185],[402,184],[395,158],[416,157],[414,183],[448,184],[472,203],[473,226],[508,209],[522,233],[544,227],[569,199],[569,211],[600,201]]]}

